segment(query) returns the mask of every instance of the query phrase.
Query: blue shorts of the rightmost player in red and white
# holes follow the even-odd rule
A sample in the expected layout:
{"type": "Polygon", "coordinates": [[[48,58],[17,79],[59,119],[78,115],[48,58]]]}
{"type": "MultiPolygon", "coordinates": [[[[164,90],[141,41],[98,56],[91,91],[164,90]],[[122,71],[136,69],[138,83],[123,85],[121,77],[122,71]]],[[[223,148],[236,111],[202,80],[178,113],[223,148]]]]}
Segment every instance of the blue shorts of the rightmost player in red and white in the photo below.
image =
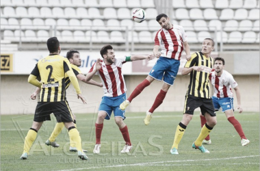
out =
{"type": "Polygon", "coordinates": [[[218,98],[216,96],[212,96],[213,105],[216,111],[222,108],[222,112],[227,110],[234,110],[233,108],[233,98],[230,97],[224,97],[224,98],[218,98]]]}

